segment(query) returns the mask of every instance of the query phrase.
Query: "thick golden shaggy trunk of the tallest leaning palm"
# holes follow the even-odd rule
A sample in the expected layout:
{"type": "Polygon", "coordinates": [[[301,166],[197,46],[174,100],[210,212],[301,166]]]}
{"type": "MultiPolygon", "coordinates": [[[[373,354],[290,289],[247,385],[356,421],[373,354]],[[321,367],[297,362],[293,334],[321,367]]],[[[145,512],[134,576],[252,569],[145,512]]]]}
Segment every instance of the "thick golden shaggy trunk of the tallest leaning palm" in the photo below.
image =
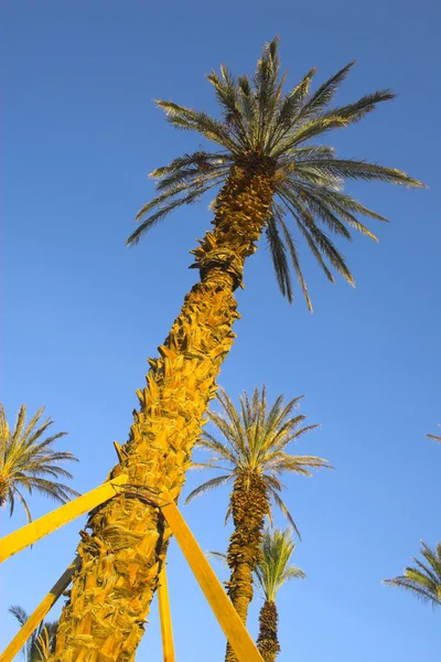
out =
{"type": "MultiPolygon", "coordinates": [[[[214,229],[193,253],[201,282],[185,297],[160,357],[149,360],[147,387],[138,391],[120,472],[130,484],[178,499],[201,433],[216,376],[230,350],[239,317],[234,290],[244,263],[256,250],[272,200],[267,172],[232,169],[215,205],[214,229]]],[[[154,498],[153,498],[154,499],[154,498]]],[[[56,637],[56,662],[129,662],[144,631],[158,586],[169,528],[153,503],[128,493],[95,509],[78,545],[74,577],[56,637]]]]}

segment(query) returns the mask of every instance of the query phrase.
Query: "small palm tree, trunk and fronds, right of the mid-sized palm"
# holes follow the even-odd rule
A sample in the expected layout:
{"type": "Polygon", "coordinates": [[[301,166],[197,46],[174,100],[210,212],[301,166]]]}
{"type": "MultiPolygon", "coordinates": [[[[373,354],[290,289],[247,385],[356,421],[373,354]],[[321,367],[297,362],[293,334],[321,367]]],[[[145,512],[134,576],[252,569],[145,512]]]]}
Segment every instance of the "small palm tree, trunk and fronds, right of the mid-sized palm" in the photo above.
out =
{"type": "Polygon", "coordinates": [[[260,609],[257,639],[265,662],[273,662],[280,652],[276,596],[281,586],[290,579],[305,578],[303,570],[289,565],[294,548],[295,543],[290,528],[266,528],[261,557],[255,570],[256,583],[265,600],[260,609]]]}

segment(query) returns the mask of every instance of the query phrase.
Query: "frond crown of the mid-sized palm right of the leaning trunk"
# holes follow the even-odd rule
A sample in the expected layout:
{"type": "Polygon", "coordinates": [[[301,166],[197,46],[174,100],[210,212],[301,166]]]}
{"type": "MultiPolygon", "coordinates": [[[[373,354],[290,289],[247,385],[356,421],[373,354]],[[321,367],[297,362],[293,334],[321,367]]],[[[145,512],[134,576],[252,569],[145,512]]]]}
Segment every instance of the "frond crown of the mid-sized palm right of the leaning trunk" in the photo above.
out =
{"type": "MultiPolygon", "coordinates": [[[[194,462],[196,469],[218,469],[222,476],[212,478],[193,490],[185,503],[207,490],[234,481],[240,476],[258,474],[263,478],[269,494],[295,528],[295,523],[281,500],[279,492],[284,487],[280,482],[283,472],[311,476],[311,469],[330,467],[327,460],[315,456],[293,456],[286,452],[287,446],[294,439],[316,428],[316,425],[301,426],[303,415],[294,415],[301,397],[283,403],[279,395],[272,407],[268,408],[266,388],[255,388],[250,398],[246,392],[239,396],[240,409],[237,410],[223,388],[217,392],[223,412],[208,410],[208,418],[223,435],[223,440],[204,430],[195,448],[208,451],[212,457],[206,462],[194,462]]],[[[230,515],[230,506],[227,517],[230,515]]]]}

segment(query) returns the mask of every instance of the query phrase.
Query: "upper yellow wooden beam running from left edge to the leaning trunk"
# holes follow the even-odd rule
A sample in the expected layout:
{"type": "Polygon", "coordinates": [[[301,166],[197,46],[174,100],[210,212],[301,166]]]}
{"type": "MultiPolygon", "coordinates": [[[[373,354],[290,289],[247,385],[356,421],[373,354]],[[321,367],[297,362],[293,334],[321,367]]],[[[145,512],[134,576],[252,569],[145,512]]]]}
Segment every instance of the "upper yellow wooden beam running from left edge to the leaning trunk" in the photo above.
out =
{"type": "Polygon", "coordinates": [[[72,520],[79,517],[79,515],[84,515],[84,513],[87,513],[104,501],[111,499],[116,494],[116,485],[123,484],[127,480],[126,474],[118,476],[118,478],[114,478],[114,480],[107,481],[98,488],[86,492],[86,494],[82,494],[73,501],[61,505],[47,513],[47,515],[43,515],[26,526],[6,535],[0,540],[0,563],[29,545],[33,545],[33,543],[36,543],[36,541],[40,541],[45,535],[67,524],[67,522],[72,522],[72,520]]]}

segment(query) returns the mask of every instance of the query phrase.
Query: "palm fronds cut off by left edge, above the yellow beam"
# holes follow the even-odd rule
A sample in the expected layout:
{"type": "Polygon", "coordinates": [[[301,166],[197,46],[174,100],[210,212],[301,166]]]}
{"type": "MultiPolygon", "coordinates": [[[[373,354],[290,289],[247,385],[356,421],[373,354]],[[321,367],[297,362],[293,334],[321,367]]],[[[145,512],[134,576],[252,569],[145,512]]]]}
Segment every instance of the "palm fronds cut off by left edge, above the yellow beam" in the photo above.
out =
{"type": "Polygon", "coordinates": [[[12,515],[15,499],[22,504],[28,521],[31,511],[21,490],[30,494],[33,491],[50,496],[58,503],[66,503],[78,492],[61,483],[60,478],[73,478],[72,473],[60,467],[58,462],[77,461],[72,452],[55,451],[54,441],[66,433],[45,437],[51,418],[41,420],[44,407],[40,407],[31,420],[26,421],[26,406],[20,407],[17,424],[11,431],[3,405],[0,404],[0,506],[9,504],[12,515]],[[55,480],[52,480],[55,479],[55,480]]]}

